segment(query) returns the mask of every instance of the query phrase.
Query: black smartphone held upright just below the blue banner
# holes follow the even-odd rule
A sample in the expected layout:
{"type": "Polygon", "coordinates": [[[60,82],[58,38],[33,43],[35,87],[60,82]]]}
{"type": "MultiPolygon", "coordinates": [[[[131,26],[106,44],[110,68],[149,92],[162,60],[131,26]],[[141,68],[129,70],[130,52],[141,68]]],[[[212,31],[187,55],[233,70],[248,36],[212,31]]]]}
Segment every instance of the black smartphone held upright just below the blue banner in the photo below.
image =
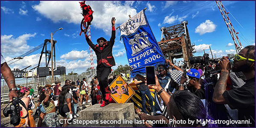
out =
{"type": "Polygon", "coordinates": [[[146,66],[146,78],[148,85],[155,85],[154,66],[146,66]]]}

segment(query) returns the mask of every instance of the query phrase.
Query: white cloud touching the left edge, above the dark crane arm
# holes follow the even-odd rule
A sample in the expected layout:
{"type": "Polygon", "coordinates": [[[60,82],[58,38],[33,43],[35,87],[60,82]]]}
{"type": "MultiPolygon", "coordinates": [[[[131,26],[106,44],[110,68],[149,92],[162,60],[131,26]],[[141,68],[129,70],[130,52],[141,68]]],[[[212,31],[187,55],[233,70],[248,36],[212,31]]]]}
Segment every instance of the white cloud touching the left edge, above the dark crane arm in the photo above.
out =
{"type": "Polygon", "coordinates": [[[6,56],[23,54],[32,48],[27,45],[27,40],[31,37],[35,37],[35,35],[36,33],[24,34],[17,38],[13,35],[1,35],[1,52],[5,53],[6,56]]]}

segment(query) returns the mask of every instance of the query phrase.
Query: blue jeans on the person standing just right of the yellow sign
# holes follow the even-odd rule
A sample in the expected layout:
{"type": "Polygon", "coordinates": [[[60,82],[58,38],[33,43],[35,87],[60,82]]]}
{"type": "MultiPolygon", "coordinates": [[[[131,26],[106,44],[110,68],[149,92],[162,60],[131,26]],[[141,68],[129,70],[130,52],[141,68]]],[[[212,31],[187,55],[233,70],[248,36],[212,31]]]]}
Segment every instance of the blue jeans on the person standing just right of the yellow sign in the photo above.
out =
{"type": "Polygon", "coordinates": [[[140,93],[141,93],[141,102],[142,102],[143,111],[145,113],[147,113],[147,110],[146,110],[146,96],[145,96],[145,94],[146,94],[148,96],[148,99],[149,99],[149,105],[150,105],[150,108],[151,108],[151,112],[153,112],[154,111],[153,97],[151,96],[149,88],[146,89],[146,90],[141,90],[140,93]]]}

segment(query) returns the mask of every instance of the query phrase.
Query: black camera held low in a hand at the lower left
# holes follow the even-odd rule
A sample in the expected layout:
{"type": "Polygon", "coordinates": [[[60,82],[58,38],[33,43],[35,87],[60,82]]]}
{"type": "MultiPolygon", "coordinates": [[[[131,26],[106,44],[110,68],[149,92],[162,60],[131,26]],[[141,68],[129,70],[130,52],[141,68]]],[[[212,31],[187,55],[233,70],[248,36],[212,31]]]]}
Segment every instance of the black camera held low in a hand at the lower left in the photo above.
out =
{"type": "Polygon", "coordinates": [[[20,117],[19,117],[19,115],[17,115],[17,113],[20,113],[20,109],[19,109],[20,105],[17,103],[16,104],[17,107],[15,108],[15,103],[13,102],[10,105],[10,107],[7,107],[7,106],[3,110],[3,115],[5,117],[8,117],[9,114],[10,114],[10,123],[11,123],[11,125],[14,125],[14,126],[19,125],[20,124],[20,117]]]}

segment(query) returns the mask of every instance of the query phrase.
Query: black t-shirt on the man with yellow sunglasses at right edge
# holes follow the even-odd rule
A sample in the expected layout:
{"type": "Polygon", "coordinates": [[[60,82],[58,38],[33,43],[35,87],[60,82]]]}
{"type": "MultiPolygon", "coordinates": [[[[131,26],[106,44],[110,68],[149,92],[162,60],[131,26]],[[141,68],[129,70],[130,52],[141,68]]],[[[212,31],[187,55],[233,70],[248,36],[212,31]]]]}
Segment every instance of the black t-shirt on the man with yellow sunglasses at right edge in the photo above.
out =
{"type": "Polygon", "coordinates": [[[239,120],[249,120],[251,124],[239,127],[255,127],[255,77],[233,90],[226,90],[222,96],[231,109],[238,109],[239,120]]]}

